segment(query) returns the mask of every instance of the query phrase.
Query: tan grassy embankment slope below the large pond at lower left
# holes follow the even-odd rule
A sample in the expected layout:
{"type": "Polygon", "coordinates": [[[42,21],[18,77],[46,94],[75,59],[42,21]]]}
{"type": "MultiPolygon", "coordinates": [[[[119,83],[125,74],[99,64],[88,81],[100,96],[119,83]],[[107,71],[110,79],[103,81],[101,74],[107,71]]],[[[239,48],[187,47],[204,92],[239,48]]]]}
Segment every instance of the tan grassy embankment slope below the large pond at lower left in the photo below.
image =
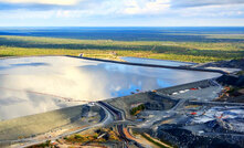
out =
{"type": "MultiPolygon", "coordinates": [[[[81,118],[84,105],[0,121],[0,144],[47,133],[81,118]]],[[[1,145],[0,145],[1,146],[1,145]]]]}

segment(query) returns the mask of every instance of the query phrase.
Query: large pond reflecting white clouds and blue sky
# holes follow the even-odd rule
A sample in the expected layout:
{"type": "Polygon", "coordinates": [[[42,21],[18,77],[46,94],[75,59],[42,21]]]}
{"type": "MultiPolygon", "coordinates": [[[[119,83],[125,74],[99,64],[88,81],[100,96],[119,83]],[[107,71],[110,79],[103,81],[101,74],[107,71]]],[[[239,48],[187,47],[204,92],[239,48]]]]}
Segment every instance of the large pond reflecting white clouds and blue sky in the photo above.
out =
{"type": "Polygon", "coordinates": [[[0,120],[216,76],[67,56],[2,59],[0,120]]]}

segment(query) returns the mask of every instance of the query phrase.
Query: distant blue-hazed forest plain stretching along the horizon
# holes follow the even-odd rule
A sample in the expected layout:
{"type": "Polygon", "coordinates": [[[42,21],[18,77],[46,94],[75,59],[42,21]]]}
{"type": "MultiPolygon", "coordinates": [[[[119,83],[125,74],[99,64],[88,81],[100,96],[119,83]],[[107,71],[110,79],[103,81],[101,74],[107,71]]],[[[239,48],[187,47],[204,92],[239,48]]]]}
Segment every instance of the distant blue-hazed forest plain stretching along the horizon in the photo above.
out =
{"type": "Polygon", "coordinates": [[[238,42],[244,28],[0,28],[0,35],[79,40],[238,42]]]}

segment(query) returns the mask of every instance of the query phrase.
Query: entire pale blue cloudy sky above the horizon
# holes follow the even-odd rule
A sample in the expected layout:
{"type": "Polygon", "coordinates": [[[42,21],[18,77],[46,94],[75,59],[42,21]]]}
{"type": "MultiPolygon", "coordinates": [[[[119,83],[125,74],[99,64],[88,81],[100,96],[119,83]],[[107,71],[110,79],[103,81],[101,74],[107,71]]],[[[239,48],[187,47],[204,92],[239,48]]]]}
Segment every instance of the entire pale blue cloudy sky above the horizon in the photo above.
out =
{"type": "Polygon", "coordinates": [[[244,0],[0,0],[0,27],[244,27],[244,0]]]}

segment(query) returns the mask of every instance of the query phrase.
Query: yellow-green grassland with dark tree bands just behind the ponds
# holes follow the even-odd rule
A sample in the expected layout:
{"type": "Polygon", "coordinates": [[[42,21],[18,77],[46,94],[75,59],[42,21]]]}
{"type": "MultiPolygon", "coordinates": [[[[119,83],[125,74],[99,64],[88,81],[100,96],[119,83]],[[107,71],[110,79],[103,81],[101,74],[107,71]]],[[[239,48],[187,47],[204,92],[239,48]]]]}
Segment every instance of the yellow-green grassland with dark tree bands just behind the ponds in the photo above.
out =
{"type": "Polygon", "coordinates": [[[244,56],[243,42],[160,42],[0,36],[0,56],[78,55],[118,60],[119,56],[184,62],[213,62],[244,56]]]}

